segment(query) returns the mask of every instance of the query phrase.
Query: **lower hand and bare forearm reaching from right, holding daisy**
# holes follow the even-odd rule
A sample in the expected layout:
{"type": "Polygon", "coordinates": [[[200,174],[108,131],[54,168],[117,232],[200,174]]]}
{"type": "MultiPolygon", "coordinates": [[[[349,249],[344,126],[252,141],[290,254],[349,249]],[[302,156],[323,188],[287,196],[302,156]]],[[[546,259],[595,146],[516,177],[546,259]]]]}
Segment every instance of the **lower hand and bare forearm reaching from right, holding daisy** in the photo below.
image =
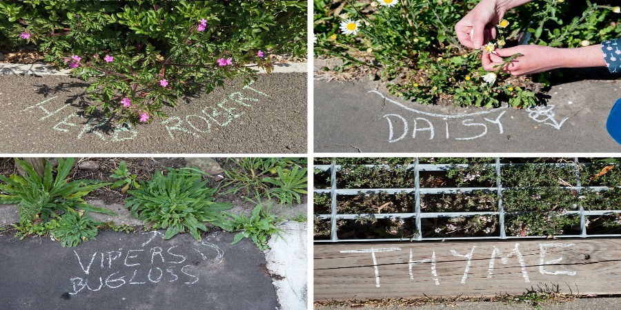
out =
{"type": "Polygon", "coordinates": [[[606,63],[602,57],[601,45],[591,45],[586,48],[550,48],[542,45],[517,45],[513,48],[497,48],[495,54],[483,52],[482,63],[486,71],[496,71],[502,65],[503,57],[517,53],[511,63],[502,68],[502,72],[511,75],[523,75],[549,71],[558,68],[600,67],[606,63]]]}

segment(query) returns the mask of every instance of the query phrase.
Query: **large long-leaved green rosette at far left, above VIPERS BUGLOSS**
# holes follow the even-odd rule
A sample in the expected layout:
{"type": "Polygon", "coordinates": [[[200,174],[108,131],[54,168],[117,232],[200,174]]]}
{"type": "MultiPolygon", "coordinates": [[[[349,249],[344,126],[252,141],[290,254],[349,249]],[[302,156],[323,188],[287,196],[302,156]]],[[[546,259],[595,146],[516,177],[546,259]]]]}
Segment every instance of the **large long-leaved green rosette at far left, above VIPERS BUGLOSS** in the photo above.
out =
{"type": "Polygon", "coordinates": [[[93,189],[108,186],[99,180],[68,179],[69,172],[75,162],[74,158],[59,158],[56,177],[52,176],[52,163],[46,160],[43,177],[34,171],[26,161],[15,158],[17,164],[26,172],[25,176],[12,175],[8,178],[0,176],[4,184],[0,190],[7,194],[0,195],[0,203],[19,204],[21,220],[41,218],[43,222],[50,220],[52,214],[67,213],[73,209],[100,212],[111,216],[117,214],[101,207],[89,205],[83,200],[93,189]]]}

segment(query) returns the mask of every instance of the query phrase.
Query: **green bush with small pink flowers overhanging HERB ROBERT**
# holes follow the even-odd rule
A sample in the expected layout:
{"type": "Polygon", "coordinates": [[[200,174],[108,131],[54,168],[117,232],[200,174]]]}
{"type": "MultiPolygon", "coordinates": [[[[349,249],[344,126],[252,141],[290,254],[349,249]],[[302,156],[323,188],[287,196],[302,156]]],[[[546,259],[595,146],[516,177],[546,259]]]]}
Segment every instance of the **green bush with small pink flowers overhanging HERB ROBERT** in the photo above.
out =
{"type": "Polygon", "coordinates": [[[0,1],[0,41],[35,44],[91,84],[90,114],[164,118],[185,94],[306,55],[306,1],[0,1]]]}

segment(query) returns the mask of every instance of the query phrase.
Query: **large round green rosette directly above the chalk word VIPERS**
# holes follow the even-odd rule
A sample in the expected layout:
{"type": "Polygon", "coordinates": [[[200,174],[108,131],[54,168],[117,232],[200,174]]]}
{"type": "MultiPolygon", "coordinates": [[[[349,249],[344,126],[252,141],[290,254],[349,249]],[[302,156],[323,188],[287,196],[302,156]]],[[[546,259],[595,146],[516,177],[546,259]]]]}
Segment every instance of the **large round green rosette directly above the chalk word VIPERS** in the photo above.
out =
{"type": "Polygon", "coordinates": [[[168,169],[166,175],[155,172],[152,180],[139,180],[140,187],[128,191],[126,207],[132,216],[144,220],[154,229],[166,229],[164,239],[172,238],[186,229],[200,240],[199,230],[207,231],[202,222],[221,227],[227,219],[224,210],[230,203],[216,203],[216,188],[205,187],[197,169],[168,169]]]}

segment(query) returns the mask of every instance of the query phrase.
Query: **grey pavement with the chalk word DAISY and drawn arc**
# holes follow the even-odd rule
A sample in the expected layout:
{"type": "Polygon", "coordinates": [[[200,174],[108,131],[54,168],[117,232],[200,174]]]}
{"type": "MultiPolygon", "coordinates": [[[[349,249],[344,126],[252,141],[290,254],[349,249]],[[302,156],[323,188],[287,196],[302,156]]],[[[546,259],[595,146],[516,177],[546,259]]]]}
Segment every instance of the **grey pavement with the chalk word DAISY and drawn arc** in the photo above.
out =
{"type": "Polygon", "coordinates": [[[317,153],[621,152],[606,131],[620,80],[554,85],[529,109],[420,105],[372,81],[314,87],[317,153]]]}

